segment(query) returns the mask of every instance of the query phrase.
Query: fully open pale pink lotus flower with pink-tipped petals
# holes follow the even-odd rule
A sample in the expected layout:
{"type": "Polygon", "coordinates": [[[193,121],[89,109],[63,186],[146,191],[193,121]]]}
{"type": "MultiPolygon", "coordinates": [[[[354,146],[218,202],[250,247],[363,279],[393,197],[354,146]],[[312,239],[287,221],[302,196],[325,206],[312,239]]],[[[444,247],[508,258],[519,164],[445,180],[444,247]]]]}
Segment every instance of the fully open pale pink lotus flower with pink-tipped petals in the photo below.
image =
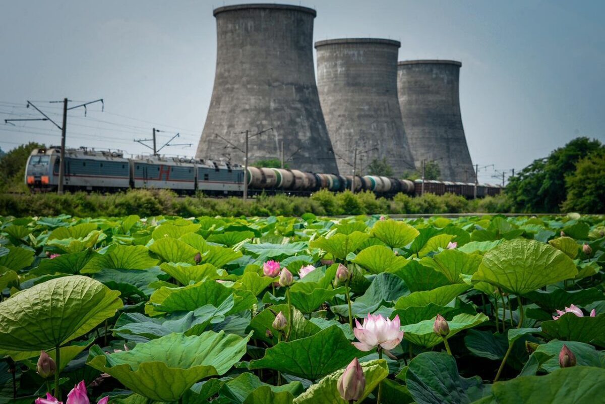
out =
{"type": "Polygon", "coordinates": [[[370,351],[376,347],[392,350],[404,337],[404,331],[400,330],[399,315],[391,321],[382,317],[382,314],[374,316],[368,313],[363,325],[359,324],[358,319],[355,319],[355,324],[357,326],[353,328],[353,333],[359,342],[352,344],[360,351],[370,351]]]}

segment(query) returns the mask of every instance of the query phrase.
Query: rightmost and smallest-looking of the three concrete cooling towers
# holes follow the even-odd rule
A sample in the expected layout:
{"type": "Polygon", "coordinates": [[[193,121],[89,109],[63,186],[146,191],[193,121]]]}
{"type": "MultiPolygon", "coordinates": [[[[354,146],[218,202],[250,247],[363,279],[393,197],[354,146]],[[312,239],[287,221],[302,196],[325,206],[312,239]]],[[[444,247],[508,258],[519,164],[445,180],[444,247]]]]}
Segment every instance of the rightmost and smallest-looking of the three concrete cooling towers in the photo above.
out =
{"type": "Polygon", "coordinates": [[[435,160],[443,181],[475,180],[460,116],[460,62],[407,60],[397,66],[399,105],[416,166],[435,160]]]}

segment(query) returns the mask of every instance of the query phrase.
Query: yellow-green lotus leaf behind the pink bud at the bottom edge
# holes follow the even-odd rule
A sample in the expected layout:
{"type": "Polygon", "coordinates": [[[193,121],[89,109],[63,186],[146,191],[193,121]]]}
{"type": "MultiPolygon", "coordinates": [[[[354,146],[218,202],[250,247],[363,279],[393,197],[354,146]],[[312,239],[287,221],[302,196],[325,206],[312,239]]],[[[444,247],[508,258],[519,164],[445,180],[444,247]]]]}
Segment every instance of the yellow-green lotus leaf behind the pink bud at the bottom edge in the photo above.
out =
{"type": "MultiPolygon", "coordinates": [[[[378,386],[385,377],[388,376],[387,362],[384,359],[371,360],[361,363],[364,371],[365,389],[359,397],[358,403],[361,403],[378,386]]],[[[336,385],[339,377],[344,373],[344,369],[335,371],[329,376],[319,380],[319,382],[310,386],[307,391],[294,399],[294,404],[347,404],[338,393],[336,385]]]]}

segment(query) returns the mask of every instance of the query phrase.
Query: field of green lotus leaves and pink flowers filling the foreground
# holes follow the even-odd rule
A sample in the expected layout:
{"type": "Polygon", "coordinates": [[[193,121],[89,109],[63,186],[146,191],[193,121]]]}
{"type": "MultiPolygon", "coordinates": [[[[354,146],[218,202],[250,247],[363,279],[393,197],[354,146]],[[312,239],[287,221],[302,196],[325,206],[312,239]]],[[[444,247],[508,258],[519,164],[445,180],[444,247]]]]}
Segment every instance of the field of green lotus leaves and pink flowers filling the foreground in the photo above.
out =
{"type": "Polygon", "coordinates": [[[0,403],[605,402],[603,217],[0,218],[0,403]]]}

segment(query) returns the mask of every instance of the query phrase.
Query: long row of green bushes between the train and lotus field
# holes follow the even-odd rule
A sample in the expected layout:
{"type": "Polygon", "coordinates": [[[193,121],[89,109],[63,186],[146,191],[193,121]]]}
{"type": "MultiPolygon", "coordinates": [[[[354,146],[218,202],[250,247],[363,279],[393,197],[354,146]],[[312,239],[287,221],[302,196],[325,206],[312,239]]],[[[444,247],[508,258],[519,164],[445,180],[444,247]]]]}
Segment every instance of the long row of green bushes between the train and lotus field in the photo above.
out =
{"type": "Polygon", "coordinates": [[[220,216],[270,216],[302,215],[359,215],[396,213],[506,213],[511,205],[504,195],[480,200],[466,200],[453,194],[437,196],[425,194],[410,197],[397,194],[392,199],[376,198],[372,192],[350,191],[332,194],[319,191],[312,197],[288,197],[286,195],[260,195],[249,203],[241,198],[177,197],[171,191],[132,189],[119,194],[34,194],[0,195],[0,215],[54,216],[67,213],[78,217],[124,216],[137,214],[142,217],[155,215],[179,215],[197,217],[220,216]]]}

